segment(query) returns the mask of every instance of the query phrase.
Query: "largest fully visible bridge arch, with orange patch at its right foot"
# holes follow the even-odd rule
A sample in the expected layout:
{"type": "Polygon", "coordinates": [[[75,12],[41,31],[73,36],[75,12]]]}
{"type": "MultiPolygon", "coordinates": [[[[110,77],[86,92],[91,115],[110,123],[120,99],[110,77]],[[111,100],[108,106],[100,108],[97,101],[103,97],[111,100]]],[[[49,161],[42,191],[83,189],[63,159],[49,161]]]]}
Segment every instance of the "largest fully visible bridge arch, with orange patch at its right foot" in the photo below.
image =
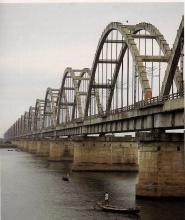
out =
{"type": "MultiPolygon", "coordinates": [[[[160,96],[171,55],[169,44],[152,24],[110,23],[92,65],[85,116],[106,116],[113,109],[160,96]],[[94,89],[98,100],[91,95],[94,89]]],[[[183,77],[177,66],[173,79],[175,91],[181,91],[183,77]]]]}

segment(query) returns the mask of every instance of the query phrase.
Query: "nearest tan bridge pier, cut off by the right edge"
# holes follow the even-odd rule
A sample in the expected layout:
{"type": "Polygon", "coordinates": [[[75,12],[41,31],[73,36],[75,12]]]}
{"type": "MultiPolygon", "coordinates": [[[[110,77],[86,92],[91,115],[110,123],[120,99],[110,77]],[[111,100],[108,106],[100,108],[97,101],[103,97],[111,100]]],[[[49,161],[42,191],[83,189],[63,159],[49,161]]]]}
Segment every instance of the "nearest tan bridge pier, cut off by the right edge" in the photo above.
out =
{"type": "Polygon", "coordinates": [[[185,197],[184,143],[181,134],[141,138],[137,197],[185,197]]]}

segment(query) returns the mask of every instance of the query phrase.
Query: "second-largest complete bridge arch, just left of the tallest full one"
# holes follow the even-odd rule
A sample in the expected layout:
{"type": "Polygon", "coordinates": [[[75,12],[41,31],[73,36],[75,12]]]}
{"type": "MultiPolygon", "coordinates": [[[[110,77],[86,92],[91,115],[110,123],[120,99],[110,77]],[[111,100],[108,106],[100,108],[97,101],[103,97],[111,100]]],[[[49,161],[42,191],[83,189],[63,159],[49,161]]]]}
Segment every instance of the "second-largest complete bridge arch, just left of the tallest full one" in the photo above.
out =
{"type": "MultiPolygon", "coordinates": [[[[66,68],[58,98],[58,124],[84,117],[90,70],[66,68]]],[[[94,94],[95,95],[95,94],[94,94]]]]}

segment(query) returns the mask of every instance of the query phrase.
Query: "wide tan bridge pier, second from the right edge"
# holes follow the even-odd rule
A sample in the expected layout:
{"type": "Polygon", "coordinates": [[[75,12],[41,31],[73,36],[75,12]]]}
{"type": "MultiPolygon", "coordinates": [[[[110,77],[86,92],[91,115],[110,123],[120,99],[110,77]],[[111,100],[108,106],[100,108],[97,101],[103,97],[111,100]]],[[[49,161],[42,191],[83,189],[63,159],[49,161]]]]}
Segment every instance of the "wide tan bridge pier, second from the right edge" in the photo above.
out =
{"type": "Polygon", "coordinates": [[[131,137],[74,140],[74,171],[138,171],[137,143],[131,137]]]}

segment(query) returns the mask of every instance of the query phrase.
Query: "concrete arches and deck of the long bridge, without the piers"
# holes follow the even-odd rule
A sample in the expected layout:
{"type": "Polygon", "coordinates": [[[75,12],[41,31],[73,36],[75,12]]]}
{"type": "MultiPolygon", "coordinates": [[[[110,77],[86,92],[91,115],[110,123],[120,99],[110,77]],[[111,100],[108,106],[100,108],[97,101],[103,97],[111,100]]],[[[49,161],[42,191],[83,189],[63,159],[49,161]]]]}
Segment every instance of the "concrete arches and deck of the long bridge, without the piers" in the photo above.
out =
{"type": "Polygon", "coordinates": [[[184,17],[173,48],[152,24],[112,22],[92,68],[67,67],[5,133],[7,139],[183,128],[184,17]]]}

